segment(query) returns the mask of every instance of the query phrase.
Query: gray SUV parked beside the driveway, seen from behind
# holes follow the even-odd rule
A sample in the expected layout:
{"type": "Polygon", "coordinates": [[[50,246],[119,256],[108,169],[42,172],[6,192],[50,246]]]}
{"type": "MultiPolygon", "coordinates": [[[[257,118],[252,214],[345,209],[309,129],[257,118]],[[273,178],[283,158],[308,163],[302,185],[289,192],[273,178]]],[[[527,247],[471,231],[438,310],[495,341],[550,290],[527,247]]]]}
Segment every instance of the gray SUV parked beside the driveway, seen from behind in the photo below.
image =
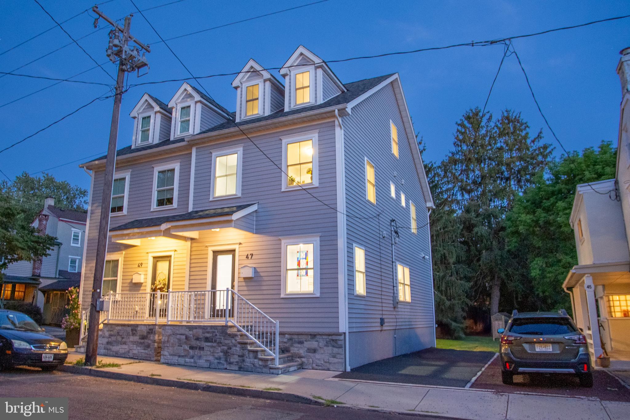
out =
{"type": "Polygon", "coordinates": [[[558,312],[512,312],[501,334],[503,383],[522,373],[571,373],[580,385],[593,386],[587,339],[564,309],[558,312]]]}

